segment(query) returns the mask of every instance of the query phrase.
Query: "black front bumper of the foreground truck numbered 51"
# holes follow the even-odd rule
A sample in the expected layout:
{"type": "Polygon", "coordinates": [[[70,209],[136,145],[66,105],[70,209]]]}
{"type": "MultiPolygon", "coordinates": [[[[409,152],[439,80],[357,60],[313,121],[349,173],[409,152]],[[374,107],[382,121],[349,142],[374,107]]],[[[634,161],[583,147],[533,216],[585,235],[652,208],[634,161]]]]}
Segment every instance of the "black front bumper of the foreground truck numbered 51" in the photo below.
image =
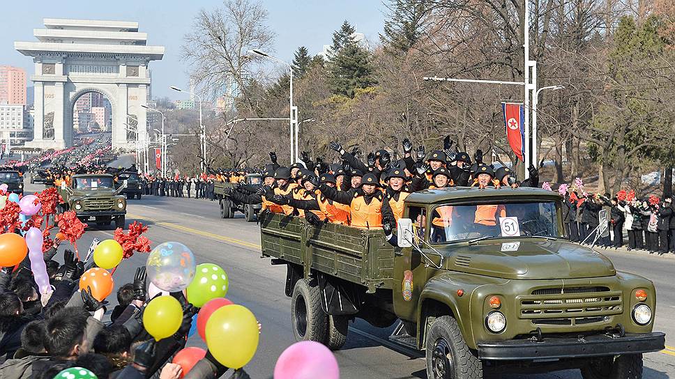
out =
{"type": "Polygon", "coordinates": [[[512,339],[478,343],[478,357],[499,361],[603,357],[650,353],[665,348],[665,334],[626,333],[624,337],[605,334],[575,338],[512,339]]]}

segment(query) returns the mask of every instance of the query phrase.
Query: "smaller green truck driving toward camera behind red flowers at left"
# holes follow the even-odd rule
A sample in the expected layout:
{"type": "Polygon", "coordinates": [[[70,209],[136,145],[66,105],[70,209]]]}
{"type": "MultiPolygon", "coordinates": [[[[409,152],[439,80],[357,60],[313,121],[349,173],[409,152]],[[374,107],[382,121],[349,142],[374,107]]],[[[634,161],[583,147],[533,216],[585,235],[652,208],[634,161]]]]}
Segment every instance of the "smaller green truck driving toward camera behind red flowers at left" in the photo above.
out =
{"type": "Polygon", "coordinates": [[[123,229],[126,197],[120,193],[125,187],[126,183],[117,187],[113,176],[107,173],[73,175],[70,185],[63,182],[59,187],[59,194],[63,197],[59,212],[74,210],[82,222],[93,218],[99,226],[114,222],[116,228],[123,229]]]}

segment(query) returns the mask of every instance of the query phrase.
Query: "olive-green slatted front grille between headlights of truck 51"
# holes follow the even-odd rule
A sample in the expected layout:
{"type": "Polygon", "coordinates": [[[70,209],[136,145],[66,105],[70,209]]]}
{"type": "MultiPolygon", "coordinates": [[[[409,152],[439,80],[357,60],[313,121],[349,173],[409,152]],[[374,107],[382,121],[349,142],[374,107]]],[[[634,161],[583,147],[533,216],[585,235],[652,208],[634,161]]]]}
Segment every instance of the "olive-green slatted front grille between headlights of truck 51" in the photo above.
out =
{"type": "Polygon", "coordinates": [[[599,323],[621,314],[621,291],[607,287],[541,288],[519,297],[519,318],[537,325],[599,323]]]}

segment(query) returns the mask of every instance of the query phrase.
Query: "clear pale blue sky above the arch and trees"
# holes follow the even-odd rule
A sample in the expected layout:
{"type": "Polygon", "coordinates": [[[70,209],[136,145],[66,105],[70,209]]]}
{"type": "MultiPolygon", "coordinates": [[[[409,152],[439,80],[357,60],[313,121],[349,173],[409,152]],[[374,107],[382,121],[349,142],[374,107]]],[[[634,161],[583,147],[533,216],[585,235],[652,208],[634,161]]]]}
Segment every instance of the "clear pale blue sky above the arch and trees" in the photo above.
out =
{"type": "MultiPolygon", "coordinates": [[[[275,51],[290,61],[298,46],[317,54],[344,20],[356,25],[370,42],[384,25],[380,0],[263,0],[269,13],[268,25],[276,33],[275,51]]],[[[14,41],[33,41],[33,29],[43,28],[43,18],[84,18],[139,22],[139,31],[148,33],[149,45],[163,45],[162,61],[153,61],[153,97],[180,99],[170,85],[185,86],[188,67],[181,61],[183,36],[190,31],[197,12],[222,6],[222,0],[28,0],[2,1],[0,23],[0,65],[15,65],[33,75],[33,61],[14,50],[14,41]]],[[[29,86],[31,85],[29,81],[29,86]]]]}

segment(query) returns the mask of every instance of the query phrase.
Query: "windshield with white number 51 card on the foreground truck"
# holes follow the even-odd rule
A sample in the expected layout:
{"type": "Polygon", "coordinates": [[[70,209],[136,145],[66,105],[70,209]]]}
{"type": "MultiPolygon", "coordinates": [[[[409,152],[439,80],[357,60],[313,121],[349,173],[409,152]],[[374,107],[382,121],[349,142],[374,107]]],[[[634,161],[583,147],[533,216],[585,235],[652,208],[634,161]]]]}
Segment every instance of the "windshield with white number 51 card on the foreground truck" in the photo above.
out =
{"type": "Polygon", "coordinates": [[[553,201],[442,205],[434,208],[431,242],[476,238],[563,237],[553,201]]]}

